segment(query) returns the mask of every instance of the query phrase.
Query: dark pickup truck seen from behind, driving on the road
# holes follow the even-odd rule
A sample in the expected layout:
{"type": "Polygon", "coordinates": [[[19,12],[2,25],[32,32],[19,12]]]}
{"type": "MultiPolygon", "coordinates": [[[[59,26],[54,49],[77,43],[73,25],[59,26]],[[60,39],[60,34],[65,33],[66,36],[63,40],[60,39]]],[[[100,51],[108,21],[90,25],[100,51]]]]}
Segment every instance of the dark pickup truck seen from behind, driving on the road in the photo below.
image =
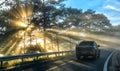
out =
{"type": "Polygon", "coordinates": [[[76,45],[76,57],[77,59],[93,57],[94,59],[100,57],[100,45],[95,41],[82,41],[76,45]]]}

